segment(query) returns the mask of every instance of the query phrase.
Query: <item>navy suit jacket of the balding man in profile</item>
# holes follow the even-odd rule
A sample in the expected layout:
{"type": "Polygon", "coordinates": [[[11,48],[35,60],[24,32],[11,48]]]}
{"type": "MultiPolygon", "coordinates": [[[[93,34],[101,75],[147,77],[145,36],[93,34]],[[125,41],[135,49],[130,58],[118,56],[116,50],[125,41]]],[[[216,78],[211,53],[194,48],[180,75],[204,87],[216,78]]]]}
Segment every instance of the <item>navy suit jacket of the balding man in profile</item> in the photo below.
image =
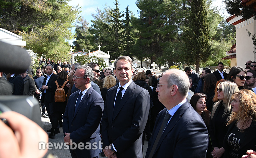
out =
{"type": "MultiPolygon", "coordinates": [[[[159,112],[148,142],[149,157],[167,109],[159,112]]],[[[208,132],[200,115],[185,102],[175,112],[157,144],[153,157],[206,157],[208,132]]]]}

